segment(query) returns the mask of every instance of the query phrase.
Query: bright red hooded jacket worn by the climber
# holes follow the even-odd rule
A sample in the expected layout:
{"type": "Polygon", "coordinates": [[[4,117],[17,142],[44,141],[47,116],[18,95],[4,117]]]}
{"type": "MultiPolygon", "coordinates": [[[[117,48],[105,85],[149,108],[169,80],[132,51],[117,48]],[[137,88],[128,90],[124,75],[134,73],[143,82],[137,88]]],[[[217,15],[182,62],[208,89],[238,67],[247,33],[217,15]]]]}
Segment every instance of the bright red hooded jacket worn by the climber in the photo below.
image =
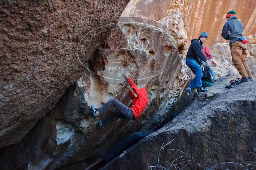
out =
{"type": "Polygon", "coordinates": [[[137,119],[148,104],[148,94],[146,89],[138,89],[131,78],[127,79],[127,81],[137,95],[136,97],[132,93],[132,90],[129,91],[130,97],[132,99],[132,103],[129,107],[132,109],[135,119],[137,119]]]}

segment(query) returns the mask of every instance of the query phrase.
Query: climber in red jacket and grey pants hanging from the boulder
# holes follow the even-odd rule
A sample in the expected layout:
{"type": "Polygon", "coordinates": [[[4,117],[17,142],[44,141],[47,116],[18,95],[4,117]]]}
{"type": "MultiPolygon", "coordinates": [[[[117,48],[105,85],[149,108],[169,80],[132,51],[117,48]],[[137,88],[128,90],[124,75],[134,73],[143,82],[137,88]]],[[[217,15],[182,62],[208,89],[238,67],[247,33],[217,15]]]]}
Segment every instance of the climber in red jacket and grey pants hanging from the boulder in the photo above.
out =
{"type": "Polygon", "coordinates": [[[124,78],[127,79],[128,83],[136,93],[137,97],[134,96],[132,89],[130,88],[129,94],[132,99],[132,103],[127,107],[123,103],[119,102],[115,98],[111,98],[104,106],[100,109],[96,109],[93,105],[92,114],[94,117],[99,116],[105,113],[111,106],[114,106],[116,110],[112,111],[104,120],[100,119],[98,124],[100,129],[104,128],[107,124],[113,121],[114,117],[133,120],[137,119],[142,111],[146,108],[148,104],[147,91],[144,88],[138,89],[135,83],[131,78],[127,78],[125,74],[123,74],[124,78]]]}

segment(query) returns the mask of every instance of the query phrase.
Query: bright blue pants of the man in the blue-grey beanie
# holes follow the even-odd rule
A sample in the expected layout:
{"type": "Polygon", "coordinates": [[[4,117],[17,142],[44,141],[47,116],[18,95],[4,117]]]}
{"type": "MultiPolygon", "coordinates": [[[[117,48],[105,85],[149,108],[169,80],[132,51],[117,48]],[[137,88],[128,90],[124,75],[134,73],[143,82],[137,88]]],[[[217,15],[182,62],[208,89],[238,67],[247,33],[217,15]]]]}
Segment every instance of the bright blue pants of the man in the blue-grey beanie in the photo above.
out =
{"type": "Polygon", "coordinates": [[[186,59],[187,66],[192,70],[192,72],[196,75],[196,77],[190,82],[188,87],[193,89],[195,86],[197,88],[202,87],[203,72],[202,68],[197,64],[196,60],[186,59]]]}

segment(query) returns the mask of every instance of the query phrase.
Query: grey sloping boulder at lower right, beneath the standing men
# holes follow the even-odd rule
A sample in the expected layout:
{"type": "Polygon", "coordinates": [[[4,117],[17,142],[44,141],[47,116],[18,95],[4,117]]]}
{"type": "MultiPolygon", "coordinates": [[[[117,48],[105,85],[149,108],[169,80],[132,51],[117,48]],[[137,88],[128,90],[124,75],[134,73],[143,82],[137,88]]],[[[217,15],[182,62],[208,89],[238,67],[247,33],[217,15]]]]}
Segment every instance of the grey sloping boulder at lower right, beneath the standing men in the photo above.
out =
{"type": "MultiPolygon", "coordinates": [[[[192,160],[184,169],[204,169],[224,161],[255,165],[256,83],[251,81],[225,90],[228,81],[236,77],[220,78],[172,122],[143,138],[102,169],[150,169],[157,164],[162,144],[172,139],[166,149],[176,149],[191,157],[179,151],[162,150],[158,165],[170,159],[161,164],[168,168],[172,161],[184,155],[181,159],[192,160]],[[195,159],[200,166],[193,162],[195,159]]],[[[186,164],[177,166],[181,168],[186,164]]],[[[241,166],[226,164],[216,168],[240,169],[241,166]]]]}

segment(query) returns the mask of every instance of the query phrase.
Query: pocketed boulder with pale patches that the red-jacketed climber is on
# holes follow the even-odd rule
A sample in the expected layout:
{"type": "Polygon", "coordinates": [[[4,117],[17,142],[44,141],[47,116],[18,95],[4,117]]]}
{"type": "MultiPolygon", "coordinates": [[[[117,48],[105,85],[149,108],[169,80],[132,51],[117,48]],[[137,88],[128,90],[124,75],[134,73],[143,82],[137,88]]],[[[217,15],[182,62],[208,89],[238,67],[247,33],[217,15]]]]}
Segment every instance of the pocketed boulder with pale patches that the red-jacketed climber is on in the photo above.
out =
{"type": "Polygon", "coordinates": [[[164,120],[188,80],[170,35],[131,18],[120,18],[100,43],[84,65],[84,75],[66,89],[56,106],[19,144],[0,150],[1,166],[57,169],[78,162],[82,169],[134,131],[149,131],[164,120]],[[94,118],[91,105],[99,108],[112,97],[125,105],[131,102],[123,73],[148,91],[149,103],[137,120],[114,119],[99,129],[97,120],[111,110],[94,118]]]}

